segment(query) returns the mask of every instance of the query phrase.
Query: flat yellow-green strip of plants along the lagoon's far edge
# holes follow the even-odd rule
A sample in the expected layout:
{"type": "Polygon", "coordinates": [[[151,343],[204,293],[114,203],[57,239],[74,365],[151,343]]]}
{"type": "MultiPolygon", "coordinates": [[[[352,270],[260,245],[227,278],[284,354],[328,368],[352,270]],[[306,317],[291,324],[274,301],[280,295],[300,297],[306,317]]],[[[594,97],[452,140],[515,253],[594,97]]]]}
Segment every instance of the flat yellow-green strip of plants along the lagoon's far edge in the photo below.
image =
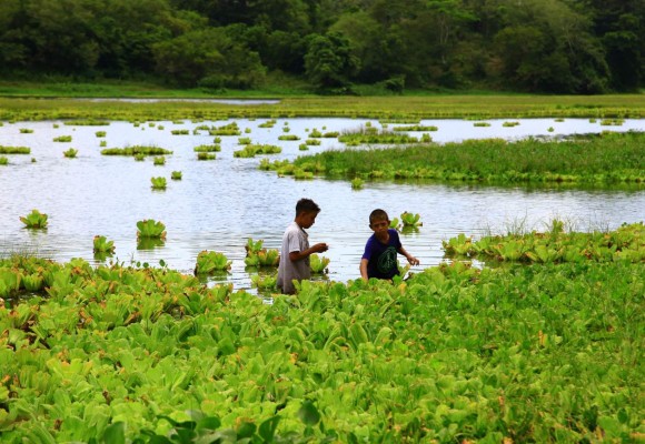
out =
{"type": "MultiPolygon", "coordinates": [[[[139,97],[150,98],[140,94],[139,97]]],[[[205,99],[201,94],[185,94],[205,99]]],[[[170,98],[178,98],[171,95],[170,98]]],[[[246,98],[252,98],[248,95],[246,98]]],[[[645,95],[437,94],[403,97],[279,97],[275,104],[127,103],[61,98],[0,98],[0,120],[214,120],[346,117],[369,119],[643,118],[645,95]]]]}

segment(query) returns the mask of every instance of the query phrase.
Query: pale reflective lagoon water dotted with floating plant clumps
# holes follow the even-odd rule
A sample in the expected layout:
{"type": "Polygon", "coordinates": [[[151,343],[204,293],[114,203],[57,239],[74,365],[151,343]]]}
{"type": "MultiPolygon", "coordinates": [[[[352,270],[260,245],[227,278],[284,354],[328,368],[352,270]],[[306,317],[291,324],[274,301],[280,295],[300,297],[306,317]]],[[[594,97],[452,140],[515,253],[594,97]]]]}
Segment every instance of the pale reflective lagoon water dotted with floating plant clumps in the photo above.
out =
{"type": "MultiPolygon", "coordinates": [[[[375,120],[359,119],[278,119],[274,128],[259,128],[266,120],[236,120],[241,137],[254,143],[279,144],[280,154],[270,160],[292,160],[305,153],[343,149],[336,139],[321,139],[308,152],[298,150],[309,130],[344,131],[375,120]],[[286,134],[300,141],[278,141],[286,134]],[[245,133],[245,130],[250,131],[245,133]]],[[[626,120],[621,127],[601,127],[586,119],[518,120],[505,128],[507,120],[488,120],[490,127],[474,127],[466,120],[423,120],[436,125],[433,140],[444,143],[465,139],[553,137],[593,133],[603,130],[645,131],[645,120],[626,120]],[[554,131],[548,129],[553,127],[554,131]]],[[[214,137],[197,125],[220,127],[231,121],[146,122],[135,125],[113,121],[105,127],[66,125],[61,121],[4,122],[0,127],[0,145],[29,147],[31,154],[10,154],[9,165],[0,167],[0,254],[29,252],[58,261],[83,258],[93,265],[102,262],[92,254],[92,239],[100,234],[115,241],[113,260],[126,264],[148,262],[191,273],[202,250],[225,253],[231,261],[229,273],[211,282],[231,282],[236,289],[250,289],[250,274],[244,264],[245,244],[249,238],[264,240],[277,249],[287,224],[292,221],[296,201],[314,199],[321,213],[309,230],[310,242],[327,242],[324,255],[330,259],[328,279],[346,282],[359,278],[358,263],[367,238],[368,215],[376,208],[390,218],[404,211],[419,213],[423,226],[401,235],[404,246],[424,266],[437,265],[443,258],[441,241],[459,233],[475,238],[486,233],[505,233],[524,228],[542,230],[554,218],[578,231],[615,229],[622,223],[645,220],[645,189],[579,190],[567,188],[498,188],[478,184],[369,183],[359,191],[347,181],[314,179],[298,181],[279,178],[275,172],[258,170],[265,155],[236,159],[241,149],[238,137],[222,137],[221,152],[212,161],[198,161],[194,147],[211,144],[214,137]],[[58,125],[58,128],[54,128],[58,125]],[[159,127],[163,129],[160,130],[159,127]],[[21,133],[31,129],[32,133],[21,133]],[[187,129],[190,135],[172,135],[187,129]],[[106,138],[97,138],[106,131],[106,138]],[[53,142],[59,135],[71,135],[69,143],[53,142]],[[156,167],[152,158],[137,162],[129,157],[100,154],[100,142],[109,148],[135,144],[157,145],[173,151],[166,164],[156,167]],[[62,152],[79,150],[76,159],[62,152]],[[36,162],[31,162],[31,159],[36,162]],[[181,171],[181,181],[171,181],[171,171],[181,171]],[[150,178],[168,179],[166,191],[152,191],[150,178]],[[32,209],[49,215],[44,231],[27,230],[19,218],[32,209]],[[137,221],[155,219],[166,224],[168,236],[162,246],[137,250],[137,221]]],[[[390,124],[389,128],[394,125],[390,124]]],[[[420,133],[410,133],[420,137],[420,133]]],[[[404,260],[403,258],[400,258],[404,260]]],[[[414,270],[413,270],[414,271],[414,270]]]]}

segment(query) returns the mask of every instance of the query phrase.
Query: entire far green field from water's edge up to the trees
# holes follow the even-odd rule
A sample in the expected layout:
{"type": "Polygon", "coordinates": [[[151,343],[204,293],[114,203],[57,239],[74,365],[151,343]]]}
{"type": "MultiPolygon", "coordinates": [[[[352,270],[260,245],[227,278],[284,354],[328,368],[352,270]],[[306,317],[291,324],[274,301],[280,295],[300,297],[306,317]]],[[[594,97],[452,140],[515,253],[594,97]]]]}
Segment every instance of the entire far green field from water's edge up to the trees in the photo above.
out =
{"type": "Polygon", "coordinates": [[[535,95],[473,91],[404,95],[322,97],[302,89],[224,91],[170,90],[147,83],[0,82],[1,120],[46,119],[215,119],[244,117],[349,117],[369,119],[644,118],[645,94],[535,95]],[[50,100],[42,100],[48,98],[50,100]],[[129,103],[76,98],[279,99],[277,104],[205,102],[129,103]]]}

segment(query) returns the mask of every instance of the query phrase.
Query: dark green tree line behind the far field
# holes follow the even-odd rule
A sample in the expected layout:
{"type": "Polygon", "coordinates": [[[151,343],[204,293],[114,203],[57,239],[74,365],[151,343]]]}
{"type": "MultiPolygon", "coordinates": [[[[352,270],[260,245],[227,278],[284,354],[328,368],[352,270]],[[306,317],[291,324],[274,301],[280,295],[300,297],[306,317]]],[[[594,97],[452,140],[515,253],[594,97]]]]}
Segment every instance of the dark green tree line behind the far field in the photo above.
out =
{"type": "Polygon", "coordinates": [[[248,89],[645,84],[643,0],[2,0],[0,74],[248,89]]]}

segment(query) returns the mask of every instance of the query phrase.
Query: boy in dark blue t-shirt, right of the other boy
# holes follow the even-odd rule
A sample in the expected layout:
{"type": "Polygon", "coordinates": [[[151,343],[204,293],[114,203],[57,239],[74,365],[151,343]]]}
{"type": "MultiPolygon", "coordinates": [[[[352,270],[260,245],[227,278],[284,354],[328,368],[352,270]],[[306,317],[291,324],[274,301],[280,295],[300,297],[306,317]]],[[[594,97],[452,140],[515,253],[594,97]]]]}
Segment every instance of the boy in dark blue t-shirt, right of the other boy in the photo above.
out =
{"type": "Polygon", "coordinates": [[[403,248],[398,232],[389,228],[389,218],[384,210],[374,210],[369,214],[369,228],[374,234],[367,240],[360,260],[363,280],[393,279],[398,275],[397,253],[406,256],[411,265],[419,264],[419,260],[403,248]]]}

